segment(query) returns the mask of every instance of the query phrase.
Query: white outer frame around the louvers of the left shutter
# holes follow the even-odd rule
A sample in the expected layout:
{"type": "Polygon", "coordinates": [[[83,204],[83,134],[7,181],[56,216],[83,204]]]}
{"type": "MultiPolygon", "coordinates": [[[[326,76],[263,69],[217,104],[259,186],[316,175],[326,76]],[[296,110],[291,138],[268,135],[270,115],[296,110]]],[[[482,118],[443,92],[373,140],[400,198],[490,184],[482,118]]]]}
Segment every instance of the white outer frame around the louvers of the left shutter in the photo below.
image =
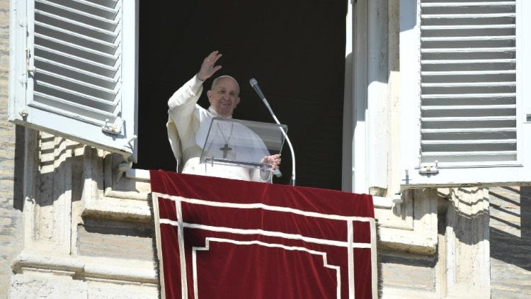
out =
{"type": "Polygon", "coordinates": [[[28,103],[33,101],[33,76],[29,76],[27,70],[31,70],[34,66],[35,2],[32,0],[11,1],[10,10],[8,120],[17,125],[50,132],[102,150],[117,152],[136,161],[139,0],[125,0],[120,6],[122,22],[120,56],[122,61],[119,84],[122,85],[120,87],[122,96],[120,113],[123,125],[119,135],[105,133],[101,126],[95,124],[28,106],[28,103]],[[29,53],[28,59],[26,52],[29,53]],[[22,83],[23,81],[25,83],[22,83]]]}

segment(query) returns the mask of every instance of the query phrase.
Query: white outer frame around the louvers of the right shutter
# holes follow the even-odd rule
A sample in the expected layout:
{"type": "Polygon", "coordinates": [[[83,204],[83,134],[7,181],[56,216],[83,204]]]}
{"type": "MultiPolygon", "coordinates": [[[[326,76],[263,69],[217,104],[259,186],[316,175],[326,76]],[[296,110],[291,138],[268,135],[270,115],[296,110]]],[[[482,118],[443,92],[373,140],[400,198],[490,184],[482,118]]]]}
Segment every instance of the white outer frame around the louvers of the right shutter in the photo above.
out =
{"type": "Polygon", "coordinates": [[[531,113],[530,58],[531,38],[523,32],[531,28],[524,16],[531,13],[531,5],[516,0],[516,55],[517,55],[517,161],[516,162],[455,162],[438,165],[437,174],[419,174],[421,167],[421,1],[400,1],[400,75],[401,75],[401,186],[476,186],[531,184],[531,113]],[[529,52],[527,50],[527,52],[529,52]],[[414,112],[411,112],[414,111],[414,112]]]}

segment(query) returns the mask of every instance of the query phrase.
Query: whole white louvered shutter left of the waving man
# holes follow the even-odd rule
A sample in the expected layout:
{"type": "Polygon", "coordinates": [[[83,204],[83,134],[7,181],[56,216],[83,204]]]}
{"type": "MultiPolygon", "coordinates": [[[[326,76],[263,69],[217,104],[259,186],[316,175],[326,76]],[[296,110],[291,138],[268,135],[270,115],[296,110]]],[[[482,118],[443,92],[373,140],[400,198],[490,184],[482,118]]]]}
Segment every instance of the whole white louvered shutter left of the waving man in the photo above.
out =
{"type": "Polygon", "coordinates": [[[137,2],[11,2],[9,117],[135,154],[137,2]]]}

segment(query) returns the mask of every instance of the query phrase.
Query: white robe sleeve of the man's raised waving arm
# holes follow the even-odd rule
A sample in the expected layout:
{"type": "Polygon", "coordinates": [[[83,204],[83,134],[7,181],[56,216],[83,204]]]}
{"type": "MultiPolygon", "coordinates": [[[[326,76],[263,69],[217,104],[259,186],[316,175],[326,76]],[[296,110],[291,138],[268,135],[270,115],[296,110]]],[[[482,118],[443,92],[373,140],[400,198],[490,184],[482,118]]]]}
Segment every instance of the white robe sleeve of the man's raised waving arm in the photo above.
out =
{"type": "Polygon", "coordinates": [[[192,132],[193,112],[202,92],[202,81],[195,75],[178,89],[168,101],[168,139],[177,162],[182,168],[181,140],[195,138],[192,132]]]}

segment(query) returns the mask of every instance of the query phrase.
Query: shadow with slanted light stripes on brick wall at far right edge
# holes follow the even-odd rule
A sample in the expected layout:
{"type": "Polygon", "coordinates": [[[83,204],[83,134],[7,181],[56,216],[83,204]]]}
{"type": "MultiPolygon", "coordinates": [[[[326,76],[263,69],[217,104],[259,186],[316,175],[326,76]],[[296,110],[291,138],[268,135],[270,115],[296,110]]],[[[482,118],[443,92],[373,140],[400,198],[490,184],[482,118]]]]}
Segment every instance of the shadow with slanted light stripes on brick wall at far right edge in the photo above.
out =
{"type": "Polygon", "coordinates": [[[491,188],[490,194],[491,258],[531,271],[531,187],[491,188]]]}

